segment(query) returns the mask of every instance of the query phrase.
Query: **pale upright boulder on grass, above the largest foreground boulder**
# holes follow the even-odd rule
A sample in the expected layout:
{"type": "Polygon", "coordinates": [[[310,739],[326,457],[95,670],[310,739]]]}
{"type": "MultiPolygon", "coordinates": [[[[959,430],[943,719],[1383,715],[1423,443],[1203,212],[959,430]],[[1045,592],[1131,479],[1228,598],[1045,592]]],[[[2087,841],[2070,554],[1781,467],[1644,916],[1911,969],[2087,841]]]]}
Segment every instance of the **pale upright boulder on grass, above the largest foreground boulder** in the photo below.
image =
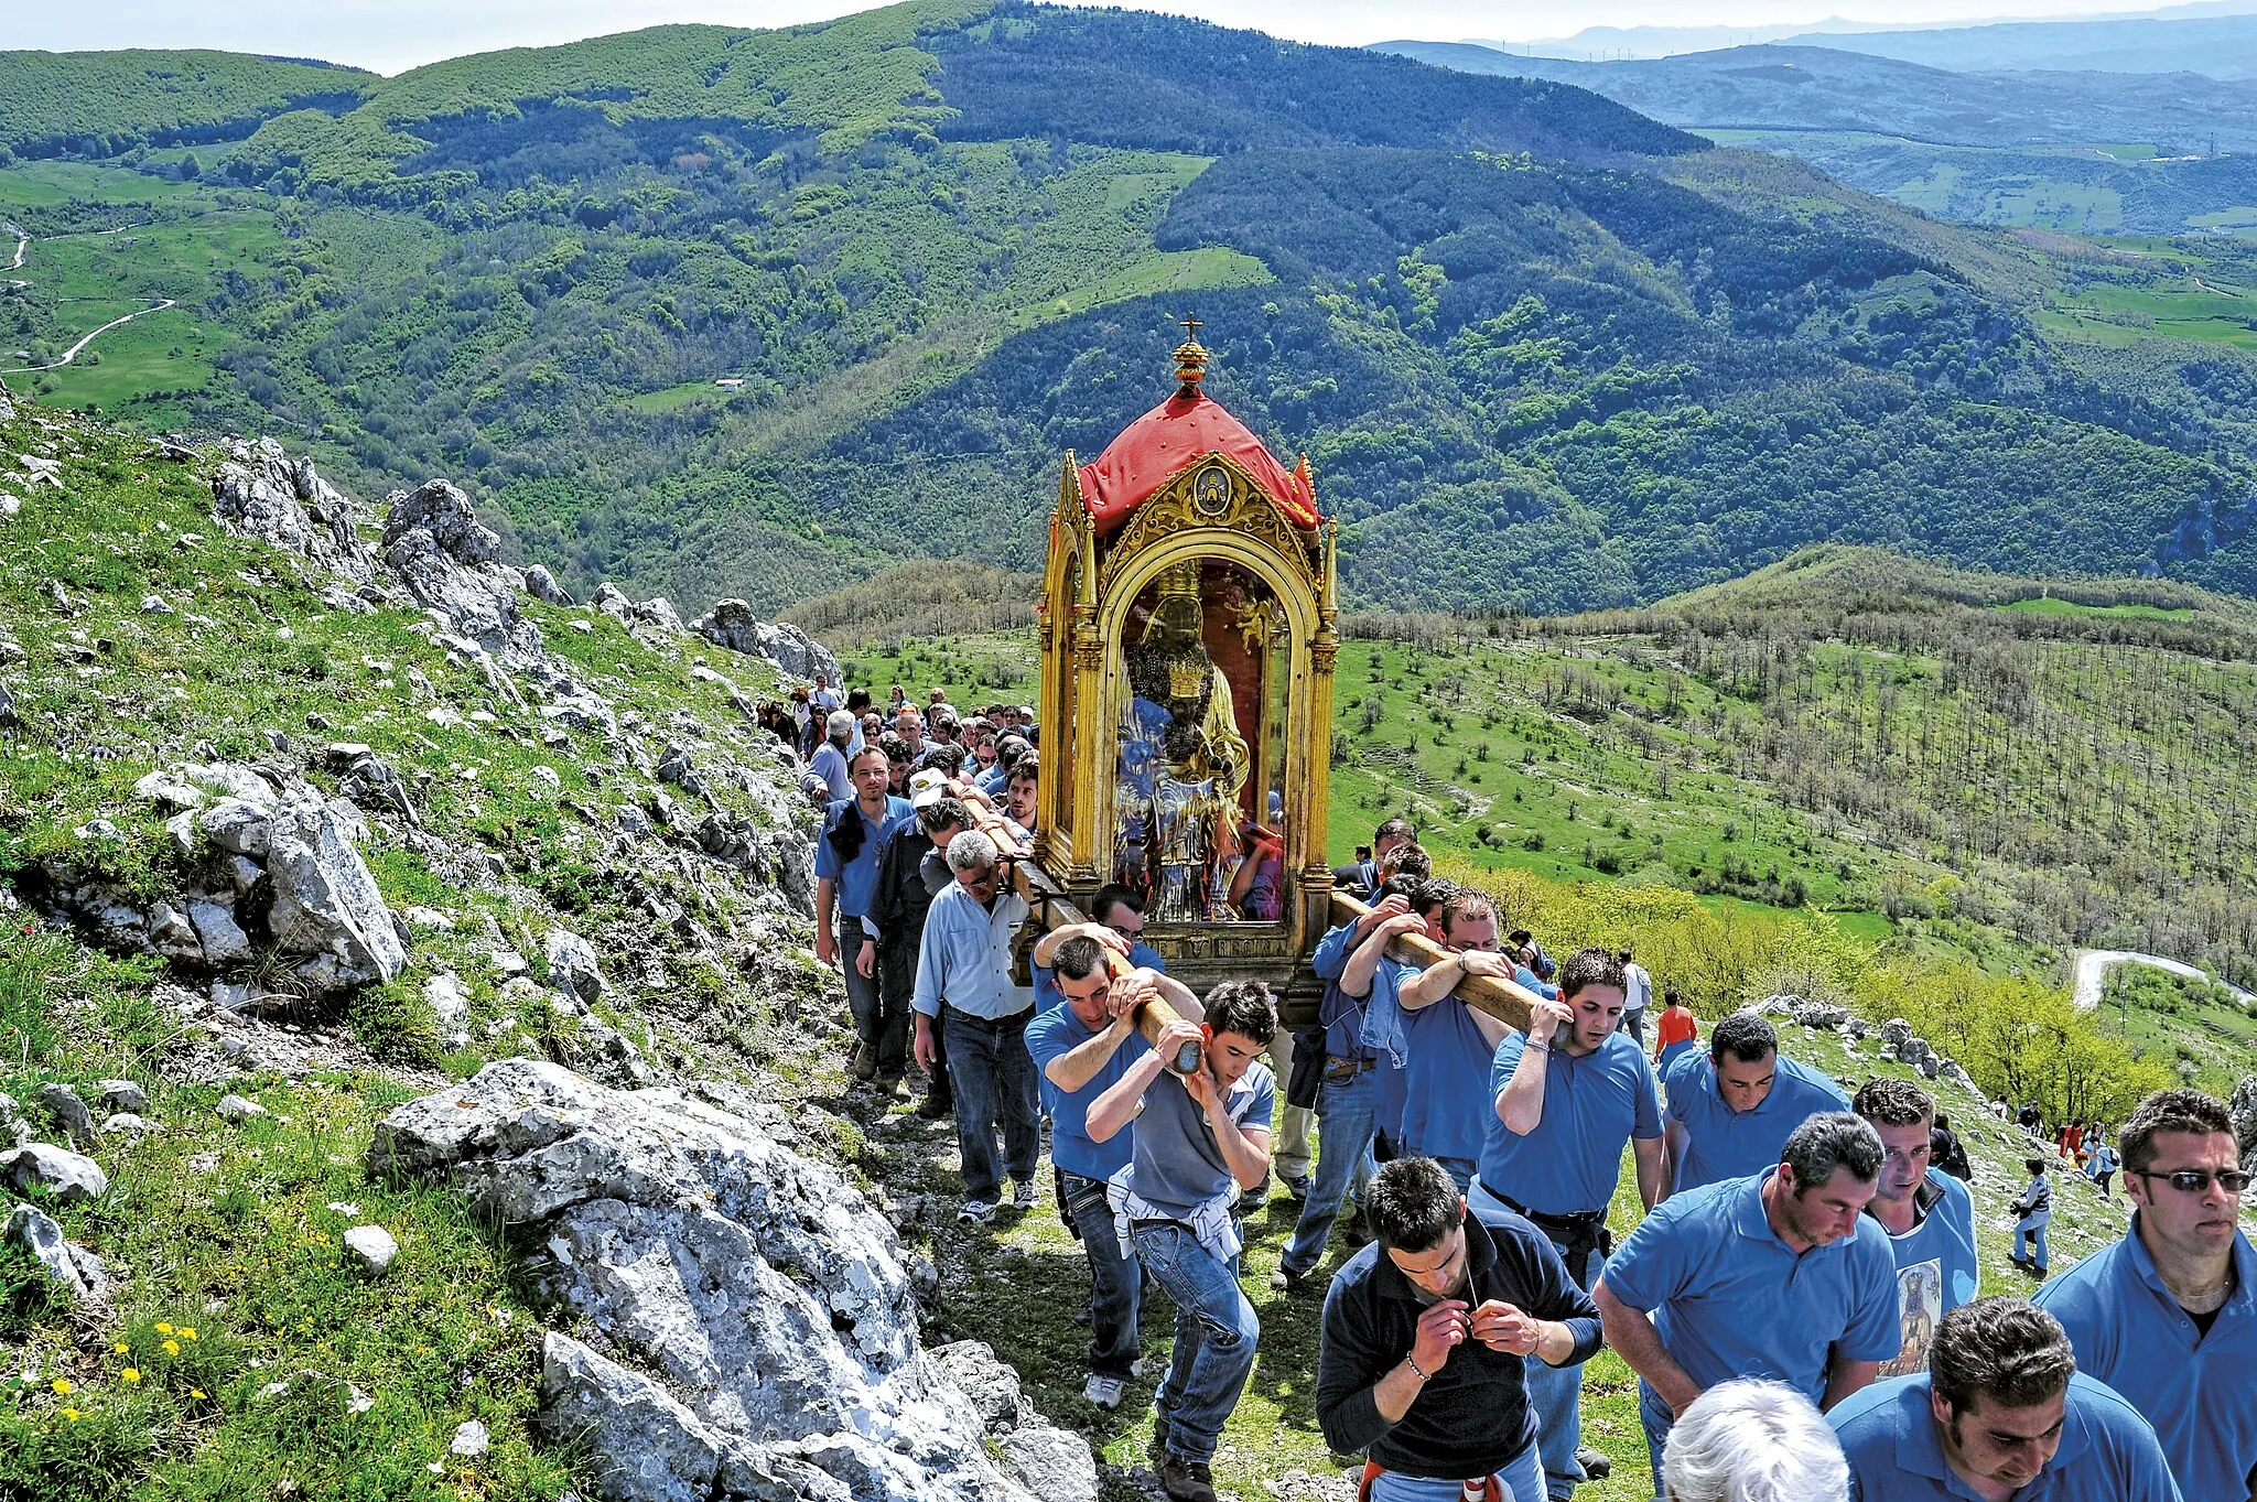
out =
{"type": "Polygon", "coordinates": [[[384,893],[354,848],[363,839],[368,823],[357,807],[305,785],[291,787],[269,825],[266,927],[284,954],[311,956],[298,977],[314,990],[390,981],[409,963],[384,893]]]}

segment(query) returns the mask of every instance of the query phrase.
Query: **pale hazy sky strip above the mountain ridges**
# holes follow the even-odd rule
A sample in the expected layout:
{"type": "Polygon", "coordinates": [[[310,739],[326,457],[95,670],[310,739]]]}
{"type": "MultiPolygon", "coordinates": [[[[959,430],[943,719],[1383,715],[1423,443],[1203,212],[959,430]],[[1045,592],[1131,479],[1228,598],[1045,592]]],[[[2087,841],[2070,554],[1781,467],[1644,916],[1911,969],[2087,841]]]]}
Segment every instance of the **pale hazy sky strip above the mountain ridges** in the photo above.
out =
{"type": "MultiPolygon", "coordinates": [[[[0,0],[0,47],[223,47],[399,72],[442,56],[548,45],[668,20],[774,27],[855,0],[0,0]]],[[[2140,0],[1183,0],[1135,9],[1201,16],[1314,43],[1530,41],[1596,25],[1964,23],[2124,14],[2140,0]]]]}

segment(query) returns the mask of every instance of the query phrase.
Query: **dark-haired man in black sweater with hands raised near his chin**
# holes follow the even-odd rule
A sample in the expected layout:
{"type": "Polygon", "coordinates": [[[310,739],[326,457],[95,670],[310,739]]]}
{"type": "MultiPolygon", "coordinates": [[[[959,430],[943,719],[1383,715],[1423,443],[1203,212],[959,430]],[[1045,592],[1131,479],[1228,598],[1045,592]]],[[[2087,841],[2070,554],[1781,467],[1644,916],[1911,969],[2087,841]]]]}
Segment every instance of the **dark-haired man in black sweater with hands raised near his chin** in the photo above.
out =
{"type": "Polygon", "coordinates": [[[1492,1502],[1542,1502],[1526,1360],[1591,1360],[1600,1346],[1591,1295],[1528,1220],[1469,1216],[1429,1157],[1381,1168],[1363,1213],[1377,1240],[1325,1297],[1316,1364],[1325,1443],[1370,1450],[1370,1502],[1460,1486],[1492,1502]]]}

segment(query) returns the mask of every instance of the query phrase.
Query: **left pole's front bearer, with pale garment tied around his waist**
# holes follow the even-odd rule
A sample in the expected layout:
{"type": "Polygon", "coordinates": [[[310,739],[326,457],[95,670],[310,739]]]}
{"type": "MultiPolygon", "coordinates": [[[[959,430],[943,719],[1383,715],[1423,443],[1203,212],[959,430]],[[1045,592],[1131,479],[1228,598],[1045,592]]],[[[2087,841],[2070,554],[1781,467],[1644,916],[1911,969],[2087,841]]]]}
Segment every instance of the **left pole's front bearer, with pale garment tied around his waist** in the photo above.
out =
{"type": "Polygon", "coordinates": [[[1156,1401],[1160,1484],[1180,1502],[1214,1502],[1207,1466],[1255,1367],[1262,1322],[1239,1290],[1241,1191],[1268,1175],[1277,1076],[1262,1062],[1277,1008],[1262,981],[1207,992],[1203,1022],[1178,1017],[1153,1051],[1090,1105],[1090,1141],[1135,1123],[1128,1166],[1113,1177],[1115,1222],[1151,1281],[1176,1301],[1176,1353],[1156,1401]],[[1185,1042],[1201,1067],[1169,1064],[1185,1042]],[[1162,1078],[1165,1076],[1165,1078],[1162,1078]]]}

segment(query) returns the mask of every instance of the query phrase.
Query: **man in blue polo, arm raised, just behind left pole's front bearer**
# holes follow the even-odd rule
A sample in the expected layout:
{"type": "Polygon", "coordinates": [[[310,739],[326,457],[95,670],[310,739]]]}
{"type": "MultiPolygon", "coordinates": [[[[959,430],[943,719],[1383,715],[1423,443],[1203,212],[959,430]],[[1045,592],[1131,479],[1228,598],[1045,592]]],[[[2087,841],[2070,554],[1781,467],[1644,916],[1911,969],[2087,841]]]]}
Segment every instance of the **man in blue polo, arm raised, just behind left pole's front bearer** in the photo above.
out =
{"type": "MultiPolygon", "coordinates": [[[[1092,925],[1095,927],[1095,925],[1092,925]]],[[[1115,952],[1126,947],[1113,929],[1101,929],[1115,952]]],[[[1063,1001],[1038,1010],[1027,1024],[1027,1053],[1043,1074],[1043,1105],[1050,1112],[1050,1161],[1059,1170],[1059,1195],[1068,1225],[1090,1258],[1090,1378],[1081,1396],[1097,1407],[1119,1407],[1138,1358],[1135,1256],[1124,1256],[1106,1204],[1106,1179],[1128,1161],[1133,1132],[1095,1141],[1088,1110],[1119,1083],[1151,1046],[1138,1033],[1138,1010],[1165,995],[1178,1010],[1198,1010],[1198,999],[1156,970],[1113,977],[1095,934],[1070,934],[1052,947],[1063,1001]]]]}

